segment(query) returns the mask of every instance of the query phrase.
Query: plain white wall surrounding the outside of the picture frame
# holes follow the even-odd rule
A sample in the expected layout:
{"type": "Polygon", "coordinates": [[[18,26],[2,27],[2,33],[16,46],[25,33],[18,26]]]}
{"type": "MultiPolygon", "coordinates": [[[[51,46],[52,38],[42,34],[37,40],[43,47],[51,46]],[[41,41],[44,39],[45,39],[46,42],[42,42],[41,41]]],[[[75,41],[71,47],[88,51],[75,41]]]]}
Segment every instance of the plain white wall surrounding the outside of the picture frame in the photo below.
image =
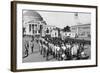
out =
{"type": "MultiPolygon", "coordinates": [[[[10,34],[11,34],[10,32],[10,29],[11,29],[10,28],[10,1],[11,0],[0,0],[0,73],[12,73],[10,71],[10,34]]],[[[100,7],[99,5],[100,0],[31,0],[31,1],[98,5],[98,7],[100,7]]],[[[100,10],[98,13],[100,13],[100,10]]],[[[100,16],[100,14],[98,14],[98,16],[100,16]]],[[[100,31],[100,25],[98,25],[98,31],[100,31]]],[[[98,37],[100,37],[100,33],[98,33],[98,37]]],[[[99,38],[98,38],[98,43],[100,43],[99,38]]],[[[98,45],[98,47],[100,46],[98,45]]],[[[98,48],[98,52],[100,52],[99,48],[98,48]]],[[[100,57],[99,57],[99,61],[100,61],[100,57]]],[[[92,68],[35,71],[34,73],[41,73],[41,72],[42,73],[87,73],[87,72],[99,73],[100,65],[99,67],[92,67],[92,68]]],[[[33,71],[26,72],[26,73],[33,73],[33,71]]]]}

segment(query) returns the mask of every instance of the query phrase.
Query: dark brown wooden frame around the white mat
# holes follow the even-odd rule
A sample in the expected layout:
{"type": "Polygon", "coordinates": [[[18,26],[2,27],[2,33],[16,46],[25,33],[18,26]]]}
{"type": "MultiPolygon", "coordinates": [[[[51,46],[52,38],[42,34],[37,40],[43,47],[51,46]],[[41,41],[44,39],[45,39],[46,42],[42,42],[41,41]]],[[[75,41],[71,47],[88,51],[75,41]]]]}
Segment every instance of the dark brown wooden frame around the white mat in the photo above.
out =
{"type": "Polygon", "coordinates": [[[11,1],[11,71],[37,71],[37,70],[53,70],[53,69],[69,69],[69,68],[84,68],[98,66],[98,7],[89,5],[74,5],[74,4],[60,4],[60,3],[42,3],[42,2],[27,2],[27,1],[11,1]],[[96,9],[96,64],[83,66],[68,66],[68,67],[52,67],[52,68],[37,68],[37,69],[17,69],[17,4],[35,4],[35,5],[50,5],[50,6],[67,6],[67,7],[83,7],[96,9]]]}

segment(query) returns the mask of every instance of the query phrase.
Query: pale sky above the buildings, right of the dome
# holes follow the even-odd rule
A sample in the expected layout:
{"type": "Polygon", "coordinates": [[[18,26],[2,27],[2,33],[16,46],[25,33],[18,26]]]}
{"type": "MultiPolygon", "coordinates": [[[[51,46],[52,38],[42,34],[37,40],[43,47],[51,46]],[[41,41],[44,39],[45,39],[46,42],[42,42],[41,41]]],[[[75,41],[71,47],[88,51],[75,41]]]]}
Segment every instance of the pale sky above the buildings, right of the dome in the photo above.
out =
{"type": "Polygon", "coordinates": [[[37,11],[46,21],[48,25],[64,28],[66,26],[74,26],[77,23],[91,24],[90,13],[78,13],[75,16],[75,12],[54,12],[54,11],[37,11]]]}

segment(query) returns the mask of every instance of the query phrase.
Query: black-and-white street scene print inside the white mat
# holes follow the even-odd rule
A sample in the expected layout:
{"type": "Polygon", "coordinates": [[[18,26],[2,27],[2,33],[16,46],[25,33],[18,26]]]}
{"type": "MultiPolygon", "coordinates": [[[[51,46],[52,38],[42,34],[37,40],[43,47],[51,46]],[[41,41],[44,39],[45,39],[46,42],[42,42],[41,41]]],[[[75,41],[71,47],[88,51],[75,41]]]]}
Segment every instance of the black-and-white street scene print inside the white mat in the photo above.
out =
{"type": "Polygon", "coordinates": [[[91,13],[23,10],[23,63],[91,59],[91,13]]]}

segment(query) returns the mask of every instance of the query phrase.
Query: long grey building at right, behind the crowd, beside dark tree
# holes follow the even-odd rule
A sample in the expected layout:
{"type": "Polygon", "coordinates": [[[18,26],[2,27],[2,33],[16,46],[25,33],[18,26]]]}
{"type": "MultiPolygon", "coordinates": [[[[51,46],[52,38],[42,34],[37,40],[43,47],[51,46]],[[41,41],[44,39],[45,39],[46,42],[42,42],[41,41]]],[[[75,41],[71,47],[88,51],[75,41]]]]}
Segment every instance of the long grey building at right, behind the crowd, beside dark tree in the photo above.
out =
{"type": "Polygon", "coordinates": [[[75,33],[78,37],[83,37],[83,38],[91,37],[90,24],[80,24],[71,26],[71,32],[75,33]]]}

